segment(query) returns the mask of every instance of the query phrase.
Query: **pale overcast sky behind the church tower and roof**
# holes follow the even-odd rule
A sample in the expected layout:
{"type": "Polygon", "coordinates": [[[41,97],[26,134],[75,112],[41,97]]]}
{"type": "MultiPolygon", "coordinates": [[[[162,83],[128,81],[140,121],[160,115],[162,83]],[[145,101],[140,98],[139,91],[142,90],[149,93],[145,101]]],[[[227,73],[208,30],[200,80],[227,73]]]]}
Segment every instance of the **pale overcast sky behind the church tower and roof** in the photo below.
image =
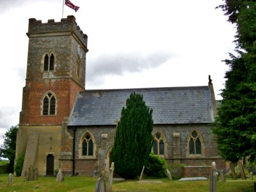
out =
{"type": "MultiPolygon", "coordinates": [[[[88,35],[86,89],[205,86],[216,99],[234,52],[236,29],[215,7],[221,0],[70,0],[88,35]]],[[[28,19],[60,21],[62,0],[1,0],[0,134],[19,124],[28,54],[28,19]]],[[[0,143],[3,139],[0,138],[0,143]]]]}

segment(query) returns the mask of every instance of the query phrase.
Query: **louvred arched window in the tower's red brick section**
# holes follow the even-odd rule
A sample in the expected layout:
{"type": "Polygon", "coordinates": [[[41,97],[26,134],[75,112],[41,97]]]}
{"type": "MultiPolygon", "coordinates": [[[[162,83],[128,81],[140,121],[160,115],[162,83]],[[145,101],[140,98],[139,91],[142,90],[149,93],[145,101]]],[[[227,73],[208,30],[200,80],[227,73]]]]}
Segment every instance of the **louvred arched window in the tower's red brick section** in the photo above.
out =
{"type": "Polygon", "coordinates": [[[56,115],[56,99],[52,93],[47,93],[44,96],[43,115],[56,115]]]}

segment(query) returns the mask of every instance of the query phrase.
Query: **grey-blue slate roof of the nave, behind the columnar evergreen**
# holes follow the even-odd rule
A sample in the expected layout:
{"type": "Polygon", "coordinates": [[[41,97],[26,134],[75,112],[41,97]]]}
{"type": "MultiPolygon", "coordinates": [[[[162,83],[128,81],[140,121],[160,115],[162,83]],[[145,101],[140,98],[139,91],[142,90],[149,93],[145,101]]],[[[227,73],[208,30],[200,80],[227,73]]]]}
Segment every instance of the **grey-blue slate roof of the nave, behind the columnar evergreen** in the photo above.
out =
{"type": "Polygon", "coordinates": [[[132,92],[153,108],[154,124],[205,124],[214,120],[209,86],[86,90],[79,92],[68,126],[116,125],[132,92]]]}

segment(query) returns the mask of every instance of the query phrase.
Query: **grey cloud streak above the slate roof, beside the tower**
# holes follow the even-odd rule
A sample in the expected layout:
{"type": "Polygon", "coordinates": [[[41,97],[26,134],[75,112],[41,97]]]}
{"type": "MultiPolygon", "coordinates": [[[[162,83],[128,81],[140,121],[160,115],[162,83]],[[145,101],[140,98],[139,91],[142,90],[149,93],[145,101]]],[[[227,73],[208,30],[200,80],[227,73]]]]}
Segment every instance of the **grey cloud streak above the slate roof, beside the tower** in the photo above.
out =
{"type": "Polygon", "coordinates": [[[87,61],[86,81],[100,83],[103,76],[122,76],[126,72],[141,72],[149,68],[156,68],[170,60],[170,52],[154,52],[143,55],[139,53],[103,55],[87,61]],[[101,80],[100,80],[101,79],[101,80]]]}

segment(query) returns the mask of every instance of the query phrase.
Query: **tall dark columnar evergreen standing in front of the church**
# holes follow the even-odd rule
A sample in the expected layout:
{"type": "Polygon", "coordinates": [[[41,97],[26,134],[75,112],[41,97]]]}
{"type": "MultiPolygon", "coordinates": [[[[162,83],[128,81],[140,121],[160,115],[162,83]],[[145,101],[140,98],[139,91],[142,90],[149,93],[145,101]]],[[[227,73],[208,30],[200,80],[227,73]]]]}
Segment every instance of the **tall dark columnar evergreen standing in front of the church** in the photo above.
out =
{"type": "Polygon", "coordinates": [[[138,177],[147,164],[153,143],[152,112],[143,96],[137,93],[131,93],[126,100],[126,108],[122,109],[112,161],[115,162],[115,172],[125,179],[138,177]]]}

